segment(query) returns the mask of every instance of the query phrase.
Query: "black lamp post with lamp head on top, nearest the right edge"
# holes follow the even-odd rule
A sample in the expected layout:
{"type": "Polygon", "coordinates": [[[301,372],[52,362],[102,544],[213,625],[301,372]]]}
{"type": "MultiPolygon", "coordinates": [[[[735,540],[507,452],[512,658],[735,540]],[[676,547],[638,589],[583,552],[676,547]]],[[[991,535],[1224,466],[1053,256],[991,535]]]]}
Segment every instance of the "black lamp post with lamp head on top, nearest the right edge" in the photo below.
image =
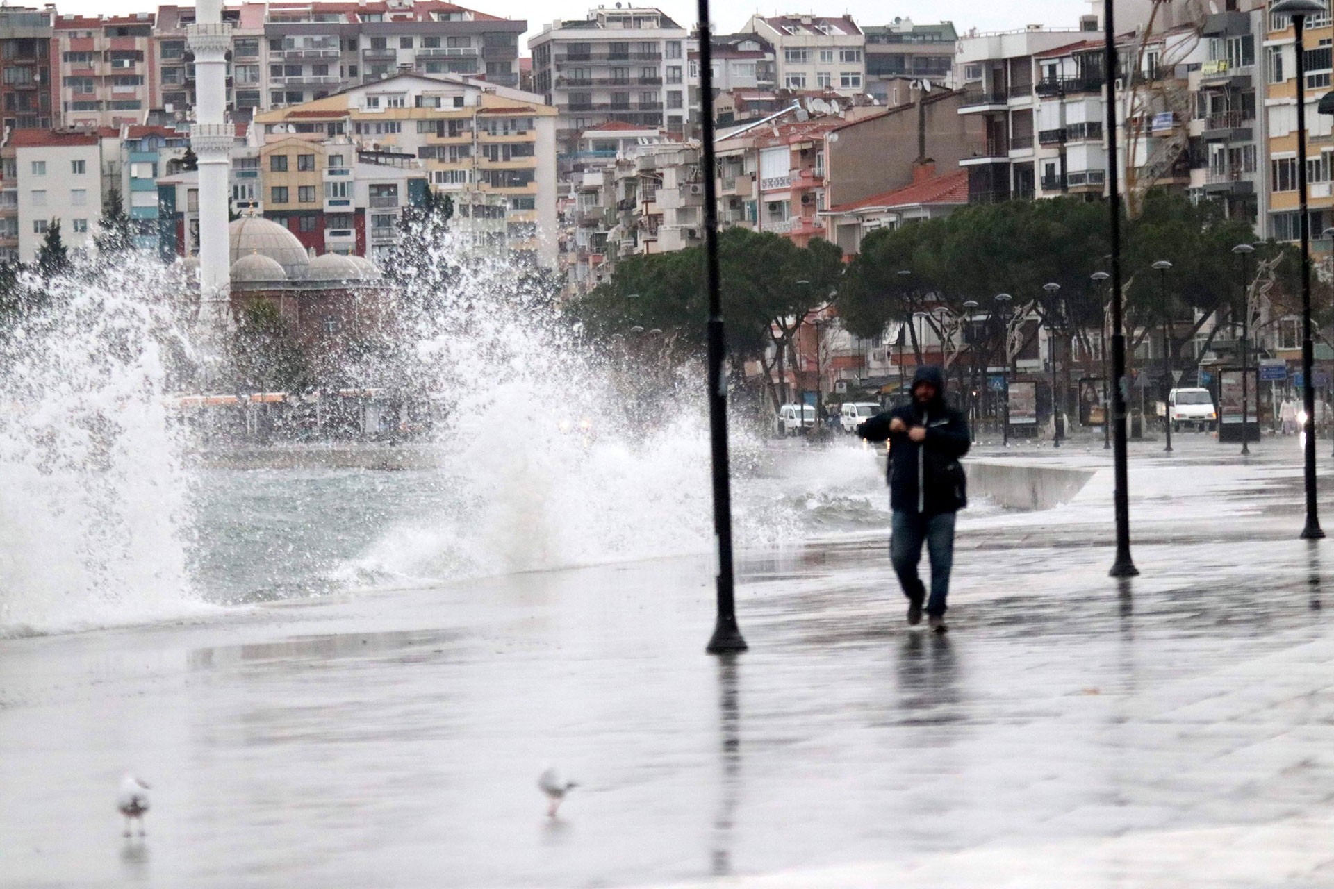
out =
{"type": "MultiPolygon", "coordinates": [[[[1110,0],[1109,0],[1110,1],[1110,0]]],[[[1297,192],[1301,205],[1298,220],[1302,232],[1302,404],[1306,421],[1305,482],[1306,482],[1306,525],[1302,540],[1319,540],[1325,536],[1315,506],[1315,344],[1311,340],[1311,217],[1306,208],[1306,17],[1325,12],[1319,0],[1279,0],[1270,7],[1275,16],[1291,16],[1293,33],[1297,37],[1297,192]]]]}

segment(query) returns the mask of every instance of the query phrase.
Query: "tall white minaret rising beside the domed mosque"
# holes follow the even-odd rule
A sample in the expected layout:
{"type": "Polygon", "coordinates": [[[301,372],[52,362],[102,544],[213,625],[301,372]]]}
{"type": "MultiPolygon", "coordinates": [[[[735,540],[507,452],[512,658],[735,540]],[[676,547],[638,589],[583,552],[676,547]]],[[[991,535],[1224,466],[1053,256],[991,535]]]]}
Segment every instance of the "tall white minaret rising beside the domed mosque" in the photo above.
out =
{"type": "Polygon", "coordinates": [[[189,128],[189,145],[199,159],[200,296],[205,301],[225,301],[231,297],[227,172],[235,131],[224,120],[232,27],[223,24],[223,1],[199,0],[195,24],[187,35],[195,52],[195,124],[189,128]]]}

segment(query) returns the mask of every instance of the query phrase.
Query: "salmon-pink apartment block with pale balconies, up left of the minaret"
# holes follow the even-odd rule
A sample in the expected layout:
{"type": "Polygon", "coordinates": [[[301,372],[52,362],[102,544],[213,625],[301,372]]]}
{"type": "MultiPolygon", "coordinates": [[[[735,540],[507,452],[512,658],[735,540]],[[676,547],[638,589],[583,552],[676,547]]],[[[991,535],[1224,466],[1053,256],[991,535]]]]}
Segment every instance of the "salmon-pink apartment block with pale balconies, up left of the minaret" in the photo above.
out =
{"type": "Polygon", "coordinates": [[[55,21],[60,117],[65,127],[143,123],[155,107],[153,15],[61,15],[55,21]]]}

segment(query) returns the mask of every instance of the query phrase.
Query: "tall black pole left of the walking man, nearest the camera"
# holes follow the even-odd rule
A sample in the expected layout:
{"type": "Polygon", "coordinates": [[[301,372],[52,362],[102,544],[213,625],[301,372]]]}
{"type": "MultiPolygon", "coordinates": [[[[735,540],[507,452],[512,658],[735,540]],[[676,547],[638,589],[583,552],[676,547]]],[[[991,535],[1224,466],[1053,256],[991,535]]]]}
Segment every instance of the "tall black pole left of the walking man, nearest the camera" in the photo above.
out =
{"type": "Polygon", "coordinates": [[[718,546],[718,621],[704,650],[719,654],[744,652],[746,640],[736,626],[732,577],[732,490],[727,458],[727,379],[723,376],[727,336],[723,329],[718,271],[718,188],[714,183],[718,160],[714,156],[712,33],[708,0],[699,0],[699,120],[704,160],[704,255],[708,280],[708,428],[714,464],[714,542],[718,546]]]}

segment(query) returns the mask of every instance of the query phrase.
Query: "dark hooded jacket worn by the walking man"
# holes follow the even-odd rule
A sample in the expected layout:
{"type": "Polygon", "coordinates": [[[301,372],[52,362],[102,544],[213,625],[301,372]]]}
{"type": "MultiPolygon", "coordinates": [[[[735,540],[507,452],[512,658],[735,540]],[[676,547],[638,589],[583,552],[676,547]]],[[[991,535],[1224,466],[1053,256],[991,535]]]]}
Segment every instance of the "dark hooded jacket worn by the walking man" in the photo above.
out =
{"type": "Polygon", "coordinates": [[[912,384],[931,383],[936,396],[930,404],[910,404],[878,413],[856,428],[867,441],[890,441],[890,506],[895,510],[934,516],[968,504],[967,478],[959,457],[968,452],[968,421],[944,403],[944,375],[939,368],[918,368],[912,384]],[[926,427],[926,440],[916,444],[907,432],[890,433],[898,417],[911,429],[926,427]]]}

